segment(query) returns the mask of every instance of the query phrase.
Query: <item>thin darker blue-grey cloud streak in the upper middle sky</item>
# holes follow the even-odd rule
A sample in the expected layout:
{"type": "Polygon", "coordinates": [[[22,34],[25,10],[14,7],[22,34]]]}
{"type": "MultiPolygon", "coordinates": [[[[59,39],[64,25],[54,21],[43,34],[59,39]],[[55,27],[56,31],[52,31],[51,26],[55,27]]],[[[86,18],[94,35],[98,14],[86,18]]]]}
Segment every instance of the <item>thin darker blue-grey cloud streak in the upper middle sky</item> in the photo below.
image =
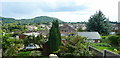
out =
{"type": "Polygon", "coordinates": [[[43,11],[46,12],[69,12],[69,11],[82,11],[84,9],[87,9],[86,6],[80,5],[80,6],[58,6],[57,8],[43,8],[43,11]]]}

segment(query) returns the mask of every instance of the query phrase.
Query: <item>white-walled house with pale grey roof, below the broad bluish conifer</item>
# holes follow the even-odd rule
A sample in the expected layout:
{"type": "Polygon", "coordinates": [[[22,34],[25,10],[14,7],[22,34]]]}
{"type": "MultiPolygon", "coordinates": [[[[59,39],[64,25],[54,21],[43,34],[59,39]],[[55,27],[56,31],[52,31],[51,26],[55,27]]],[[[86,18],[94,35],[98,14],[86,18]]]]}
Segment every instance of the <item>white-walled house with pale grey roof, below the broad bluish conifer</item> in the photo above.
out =
{"type": "Polygon", "coordinates": [[[79,36],[87,37],[89,42],[100,42],[100,34],[98,32],[78,32],[79,36]]]}

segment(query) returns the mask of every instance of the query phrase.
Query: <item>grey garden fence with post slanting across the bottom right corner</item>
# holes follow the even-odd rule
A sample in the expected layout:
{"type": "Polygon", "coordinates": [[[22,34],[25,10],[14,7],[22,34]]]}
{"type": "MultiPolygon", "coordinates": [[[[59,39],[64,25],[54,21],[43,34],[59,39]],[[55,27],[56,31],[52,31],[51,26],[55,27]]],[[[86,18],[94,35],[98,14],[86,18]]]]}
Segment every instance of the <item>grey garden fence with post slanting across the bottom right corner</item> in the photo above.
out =
{"type": "Polygon", "coordinates": [[[91,47],[91,46],[89,46],[89,50],[95,52],[97,54],[97,56],[103,56],[103,58],[110,58],[109,56],[120,58],[120,55],[113,53],[111,51],[108,51],[108,50],[104,50],[104,52],[101,52],[100,50],[98,50],[94,47],[91,47]]]}

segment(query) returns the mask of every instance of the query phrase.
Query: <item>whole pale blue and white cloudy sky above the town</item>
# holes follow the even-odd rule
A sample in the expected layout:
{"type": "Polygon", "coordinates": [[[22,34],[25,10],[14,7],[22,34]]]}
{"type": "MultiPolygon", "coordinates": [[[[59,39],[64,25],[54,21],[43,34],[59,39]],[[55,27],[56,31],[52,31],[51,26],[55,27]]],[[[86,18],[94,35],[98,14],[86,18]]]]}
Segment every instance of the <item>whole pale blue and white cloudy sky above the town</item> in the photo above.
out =
{"type": "Polygon", "coordinates": [[[30,19],[50,16],[65,22],[88,21],[101,10],[110,21],[118,21],[120,0],[1,0],[0,16],[30,19]]]}

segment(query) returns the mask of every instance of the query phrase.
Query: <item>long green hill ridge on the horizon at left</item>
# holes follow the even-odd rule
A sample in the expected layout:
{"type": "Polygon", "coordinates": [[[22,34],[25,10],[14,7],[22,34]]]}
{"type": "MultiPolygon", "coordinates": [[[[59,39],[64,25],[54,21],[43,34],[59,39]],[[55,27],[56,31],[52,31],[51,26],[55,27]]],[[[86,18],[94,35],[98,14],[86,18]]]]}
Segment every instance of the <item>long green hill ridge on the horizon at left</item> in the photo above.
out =
{"type": "Polygon", "coordinates": [[[21,19],[21,20],[16,20],[14,18],[0,17],[0,20],[2,20],[2,23],[20,22],[20,23],[23,23],[23,24],[27,24],[27,23],[45,23],[45,22],[52,22],[53,20],[58,20],[60,23],[63,22],[58,18],[48,17],[48,16],[39,16],[39,17],[35,17],[35,18],[32,18],[32,19],[21,19]]]}

